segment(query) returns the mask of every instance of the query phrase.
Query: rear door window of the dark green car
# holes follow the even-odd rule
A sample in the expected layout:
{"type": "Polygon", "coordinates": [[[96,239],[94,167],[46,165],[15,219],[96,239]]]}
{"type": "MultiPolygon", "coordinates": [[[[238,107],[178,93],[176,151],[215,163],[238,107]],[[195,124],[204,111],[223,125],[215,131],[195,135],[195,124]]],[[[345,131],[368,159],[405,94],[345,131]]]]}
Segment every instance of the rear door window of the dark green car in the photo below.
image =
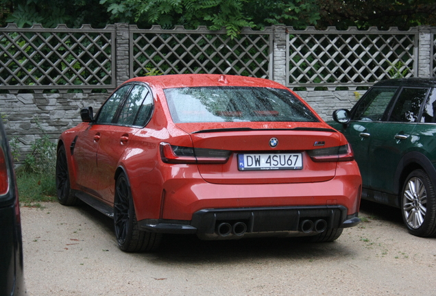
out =
{"type": "Polygon", "coordinates": [[[393,106],[389,121],[417,122],[427,92],[428,88],[403,88],[393,106]]]}

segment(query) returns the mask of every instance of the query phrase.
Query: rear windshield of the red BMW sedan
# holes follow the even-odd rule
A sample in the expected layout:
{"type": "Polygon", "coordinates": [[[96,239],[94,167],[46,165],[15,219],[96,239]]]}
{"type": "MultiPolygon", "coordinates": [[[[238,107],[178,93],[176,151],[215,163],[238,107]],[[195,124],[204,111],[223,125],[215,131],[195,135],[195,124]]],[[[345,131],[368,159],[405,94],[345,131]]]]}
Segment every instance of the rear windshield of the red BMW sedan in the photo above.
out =
{"type": "Polygon", "coordinates": [[[165,96],[175,123],[318,121],[300,99],[278,88],[167,88],[165,96]]]}

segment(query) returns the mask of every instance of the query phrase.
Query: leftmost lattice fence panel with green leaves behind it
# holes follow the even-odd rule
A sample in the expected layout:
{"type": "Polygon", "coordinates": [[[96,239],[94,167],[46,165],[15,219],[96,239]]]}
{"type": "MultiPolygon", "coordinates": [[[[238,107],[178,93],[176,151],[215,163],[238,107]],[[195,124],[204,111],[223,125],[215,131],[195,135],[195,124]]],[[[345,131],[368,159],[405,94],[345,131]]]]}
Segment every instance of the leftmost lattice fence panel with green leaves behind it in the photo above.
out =
{"type": "Polygon", "coordinates": [[[0,87],[114,87],[114,26],[45,29],[14,24],[0,32],[0,87]]]}

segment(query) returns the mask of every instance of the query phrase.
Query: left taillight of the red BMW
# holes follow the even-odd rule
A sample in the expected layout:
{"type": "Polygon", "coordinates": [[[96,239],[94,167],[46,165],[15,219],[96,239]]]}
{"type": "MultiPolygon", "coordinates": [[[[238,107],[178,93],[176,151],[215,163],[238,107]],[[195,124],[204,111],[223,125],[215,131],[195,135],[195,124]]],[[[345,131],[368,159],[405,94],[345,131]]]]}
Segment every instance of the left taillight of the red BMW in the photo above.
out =
{"type": "Polygon", "coordinates": [[[223,164],[228,161],[230,151],[174,146],[160,143],[160,158],[172,164],[223,164]]]}

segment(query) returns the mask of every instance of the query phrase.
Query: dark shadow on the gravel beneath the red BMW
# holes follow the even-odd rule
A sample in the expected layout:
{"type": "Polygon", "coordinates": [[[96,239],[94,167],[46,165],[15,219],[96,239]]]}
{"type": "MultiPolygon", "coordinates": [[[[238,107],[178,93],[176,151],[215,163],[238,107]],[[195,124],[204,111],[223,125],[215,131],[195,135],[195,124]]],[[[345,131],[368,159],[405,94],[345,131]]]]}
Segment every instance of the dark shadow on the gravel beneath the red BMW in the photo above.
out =
{"type": "MultiPolygon", "coordinates": [[[[98,223],[114,236],[112,219],[86,204],[77,210],[98,223]]],[[[165,235],[158,251],[144,254],[126,254],[154,264],[208,264],[209,262],[265,262],[269,259],[307,260],[320,258],[339,260],[356,256],[356,251],[345,242],[346,234],[332,243],[305,243],[298,238],[244,238],[240,240],[199,240],[195,235],[165,235]],[[253,261],[254,260],[254,261],[253,261]]]]}

